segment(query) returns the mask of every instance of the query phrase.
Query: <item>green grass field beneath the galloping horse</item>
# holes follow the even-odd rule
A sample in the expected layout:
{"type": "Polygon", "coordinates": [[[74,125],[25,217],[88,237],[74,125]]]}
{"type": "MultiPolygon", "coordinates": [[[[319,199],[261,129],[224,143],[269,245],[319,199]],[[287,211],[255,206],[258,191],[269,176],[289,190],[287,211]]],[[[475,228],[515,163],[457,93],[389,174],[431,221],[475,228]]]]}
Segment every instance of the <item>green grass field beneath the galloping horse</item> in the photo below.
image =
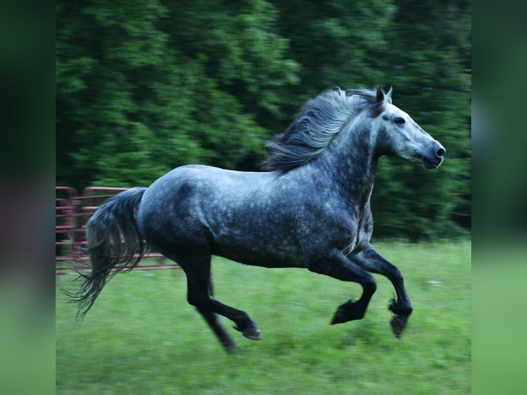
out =
{"type": "Polygon", "coordinates": [[[300,269],[215,258],[216,297],[245,310],[264,339],[223,322],[239,345],[226,354],[186,303],[182,270],[114,277],[82,323],[57,277],[57,394],[469,394],[471,246],[378,243],[413,303],[401,339],[389,327],[394,290],[385,277],[365,318],[329,325],[361,287],[300,269]]]}

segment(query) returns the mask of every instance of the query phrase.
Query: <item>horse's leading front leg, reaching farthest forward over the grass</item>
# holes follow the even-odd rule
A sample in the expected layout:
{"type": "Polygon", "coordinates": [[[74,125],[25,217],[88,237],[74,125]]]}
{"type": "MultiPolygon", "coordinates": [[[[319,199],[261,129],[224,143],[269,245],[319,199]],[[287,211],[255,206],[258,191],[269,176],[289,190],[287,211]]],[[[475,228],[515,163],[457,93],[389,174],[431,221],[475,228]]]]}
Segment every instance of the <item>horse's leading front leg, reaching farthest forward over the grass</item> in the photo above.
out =
{"type": "Polygon", "coordinates": [[[394,318],[390,321],[390,325],[392,332],[399,338],[402,331],[405,330],[408,317],[413,310],[410,298],[406,292],[405,281],[399,269],[377,253],[371,245],[368,245],[360,253],[352,255],[350,259],[364,270],[387,277],[391,281],[391,284],[394,285],[397,300],[391,299],[389,304],[389,310],[395,314],[394,318]]]}

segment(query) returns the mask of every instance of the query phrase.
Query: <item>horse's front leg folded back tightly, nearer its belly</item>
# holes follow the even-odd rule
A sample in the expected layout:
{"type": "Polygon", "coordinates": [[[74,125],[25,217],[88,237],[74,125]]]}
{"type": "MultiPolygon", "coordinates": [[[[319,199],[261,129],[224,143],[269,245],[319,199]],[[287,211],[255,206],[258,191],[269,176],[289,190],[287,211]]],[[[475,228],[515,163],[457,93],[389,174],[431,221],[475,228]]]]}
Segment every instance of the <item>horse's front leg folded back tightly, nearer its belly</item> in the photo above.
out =
{"type": "Polygon", "coordinates": [[[308,263],[308,269],[314,273],[327,275],[335,279],[353,281],[363,287],[363,294],[358,301],[349,299],[349,301],[338,306],[331,321],[332,324],[344,323],[364,317],[369,301],[377,289],[372,275],[366,273],[365,270],[347,259],[340,251],[334,251],[328,257],[313,259],[308,263]]]}

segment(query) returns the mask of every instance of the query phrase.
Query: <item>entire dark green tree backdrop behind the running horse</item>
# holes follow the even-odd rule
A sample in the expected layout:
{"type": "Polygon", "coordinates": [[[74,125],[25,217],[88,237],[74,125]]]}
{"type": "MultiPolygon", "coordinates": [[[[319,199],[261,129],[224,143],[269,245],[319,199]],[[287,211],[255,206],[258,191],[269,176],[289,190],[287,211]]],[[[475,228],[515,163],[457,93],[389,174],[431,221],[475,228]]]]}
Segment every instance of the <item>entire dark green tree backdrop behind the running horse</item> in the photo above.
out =
{"type": "Polygon", "coordinates": [[[432,172],[381,160],[375,235],[455,235],[470,226],[470,12],[461,0],[57,1],[56,182],[256,170],[308,98],[393,85],[447,156],[432,172]]]}

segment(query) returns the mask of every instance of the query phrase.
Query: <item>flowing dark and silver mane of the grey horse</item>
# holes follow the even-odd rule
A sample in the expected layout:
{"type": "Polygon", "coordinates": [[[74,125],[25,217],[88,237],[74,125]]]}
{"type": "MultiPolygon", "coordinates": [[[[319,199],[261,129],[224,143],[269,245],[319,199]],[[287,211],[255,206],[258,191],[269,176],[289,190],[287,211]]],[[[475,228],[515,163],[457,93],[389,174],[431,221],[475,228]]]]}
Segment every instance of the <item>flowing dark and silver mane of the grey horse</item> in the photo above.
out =
{"type": "Polygon", "coordinates": [[[288,129],[265,145],[270,157],[263,169],[289,171],[323,153],[349,120],[362,111],[378,114],[385,101],[370,89],[331,89],[309,100],[288,129]]]}

